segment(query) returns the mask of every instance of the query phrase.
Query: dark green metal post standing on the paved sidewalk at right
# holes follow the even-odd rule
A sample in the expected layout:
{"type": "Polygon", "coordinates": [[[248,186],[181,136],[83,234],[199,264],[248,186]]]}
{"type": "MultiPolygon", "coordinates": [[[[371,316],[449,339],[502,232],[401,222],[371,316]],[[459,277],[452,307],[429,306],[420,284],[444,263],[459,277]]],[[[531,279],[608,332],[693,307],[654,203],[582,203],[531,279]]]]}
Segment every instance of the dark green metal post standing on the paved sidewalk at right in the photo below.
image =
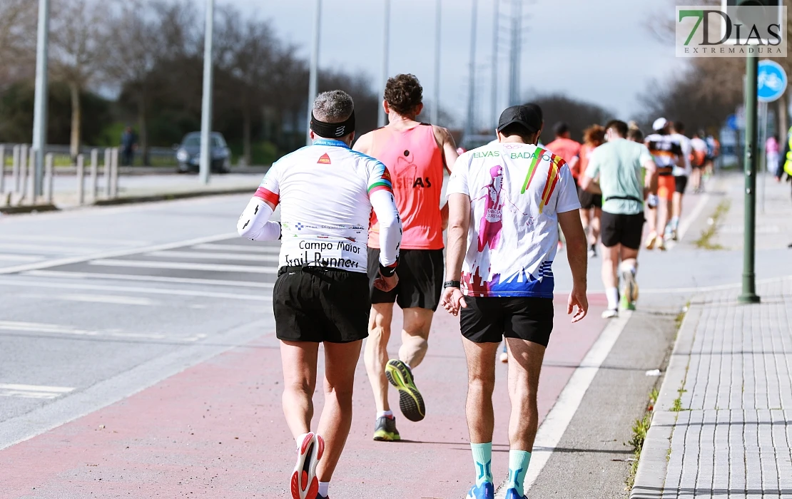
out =
{"type": "Polygon", "coordinates": [[[737,301],[759,303],[756,294],[756,108],[759,59],[749,54],[745,62],[745,236],[742,293],[737,301]]]}

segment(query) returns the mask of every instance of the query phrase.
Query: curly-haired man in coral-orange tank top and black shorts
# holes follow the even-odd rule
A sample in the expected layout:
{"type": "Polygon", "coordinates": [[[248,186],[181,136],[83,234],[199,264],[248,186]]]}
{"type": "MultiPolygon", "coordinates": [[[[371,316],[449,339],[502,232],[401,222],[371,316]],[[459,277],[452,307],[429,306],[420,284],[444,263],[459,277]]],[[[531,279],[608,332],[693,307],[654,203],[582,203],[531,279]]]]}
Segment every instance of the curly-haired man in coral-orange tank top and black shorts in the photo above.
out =
{"type": "MultiPolygon", "coordinates": [[[[420,123],[423,89],[417,77],[399,74],[388,80],[383,102],[388,125],[365,134],[354,149],[382,161],[393,176],[394,198],[402,217],[402,246],[396,270],[399,283],[383,292],[373,285],[376,270],[369,266],[371,316],[365,361],[377,406],[374,440],[399,440],[396,419],[388,403],[388,382],[399,391],[399,407],[410,421],[421,421],[426,408],[415,385],[413,369],[428,346],[432,316],[443,287],[443,230],[447,206],[440,209],[444,169],[451,172],[458,157],[451,134],[442,127],[420,123]],[[388,360],[394,302],[404,312],[398,359],[388,360]]],[[[371,215],[369,258],[379,258],[379,224],[371,215]]]]}

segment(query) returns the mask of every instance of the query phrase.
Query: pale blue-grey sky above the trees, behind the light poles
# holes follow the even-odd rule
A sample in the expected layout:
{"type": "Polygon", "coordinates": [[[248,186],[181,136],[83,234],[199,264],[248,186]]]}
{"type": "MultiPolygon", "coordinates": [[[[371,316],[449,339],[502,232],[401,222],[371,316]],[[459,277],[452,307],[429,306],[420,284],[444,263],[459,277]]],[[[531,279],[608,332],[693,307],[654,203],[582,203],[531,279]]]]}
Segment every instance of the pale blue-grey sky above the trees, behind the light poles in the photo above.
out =
{"type": "MultiPolygon", "coordinates": [[[[194,0],[203,3],[204,0],[194,0]]],[[[272,21],[279,36],[308,57],[314,0],[217,0],[272,21]]],[[[389,74],[413,73],[426,100],[434,81],[436,0],[391,0],[389,74]]],[[[441,0],[440,102],[465,114],[474,0],[441,0]]],[[[510,5],[501,0],[499,107],[505,107],[510,5]]],[[[491,111],[494,0],[478,0],[476,95],[478,122],[491,111]]],[[[524,0],[522,95],[565,93],[611,109],[628,119],[641,112],[636,96],[653,79],[663,81],[681,66],[672,43],[653,36],[653,17],[674,16],[668,0],[524,0]],[[668,11],[666,13],[666,11],[668,11]]],[[[363,72],[379,88],[382,65],[383,0],[322,0],[322,68],[363,72]]]]}

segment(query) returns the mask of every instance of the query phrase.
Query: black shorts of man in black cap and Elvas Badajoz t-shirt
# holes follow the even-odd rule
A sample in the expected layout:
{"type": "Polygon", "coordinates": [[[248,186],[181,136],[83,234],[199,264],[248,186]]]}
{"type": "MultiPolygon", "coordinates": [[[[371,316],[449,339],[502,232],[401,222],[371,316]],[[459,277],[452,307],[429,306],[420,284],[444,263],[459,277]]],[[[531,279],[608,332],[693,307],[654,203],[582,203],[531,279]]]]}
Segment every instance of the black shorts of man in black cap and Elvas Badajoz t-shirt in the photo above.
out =
{"type": "Polygon", "coordinates": [[[474,343],[520,338],[547,346],[553,332],[553,299],[533,297],[465,297],[459,314],[462,335],[474,343]]]}

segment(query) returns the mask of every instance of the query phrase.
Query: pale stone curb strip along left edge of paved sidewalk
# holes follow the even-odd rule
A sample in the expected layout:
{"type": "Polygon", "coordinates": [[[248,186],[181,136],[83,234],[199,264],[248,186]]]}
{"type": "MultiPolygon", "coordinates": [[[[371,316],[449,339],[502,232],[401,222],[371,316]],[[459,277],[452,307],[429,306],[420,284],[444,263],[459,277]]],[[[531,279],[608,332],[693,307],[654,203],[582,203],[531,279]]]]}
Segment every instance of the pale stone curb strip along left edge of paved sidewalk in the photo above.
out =
{"type": "Polygon", "coordinates": [[[674,350],[665,371],[660,395],[655,403],[652,423],[646,433],[635,482],[630,499],[659,499],[663,497],[665,477],[668,472],[668,450],[679,413],[672,410],[674,401],[680,396],[680,388],[687,378],[695,330],[701,319],[702,308],[691,304],[682,321],[674,350]]]}

